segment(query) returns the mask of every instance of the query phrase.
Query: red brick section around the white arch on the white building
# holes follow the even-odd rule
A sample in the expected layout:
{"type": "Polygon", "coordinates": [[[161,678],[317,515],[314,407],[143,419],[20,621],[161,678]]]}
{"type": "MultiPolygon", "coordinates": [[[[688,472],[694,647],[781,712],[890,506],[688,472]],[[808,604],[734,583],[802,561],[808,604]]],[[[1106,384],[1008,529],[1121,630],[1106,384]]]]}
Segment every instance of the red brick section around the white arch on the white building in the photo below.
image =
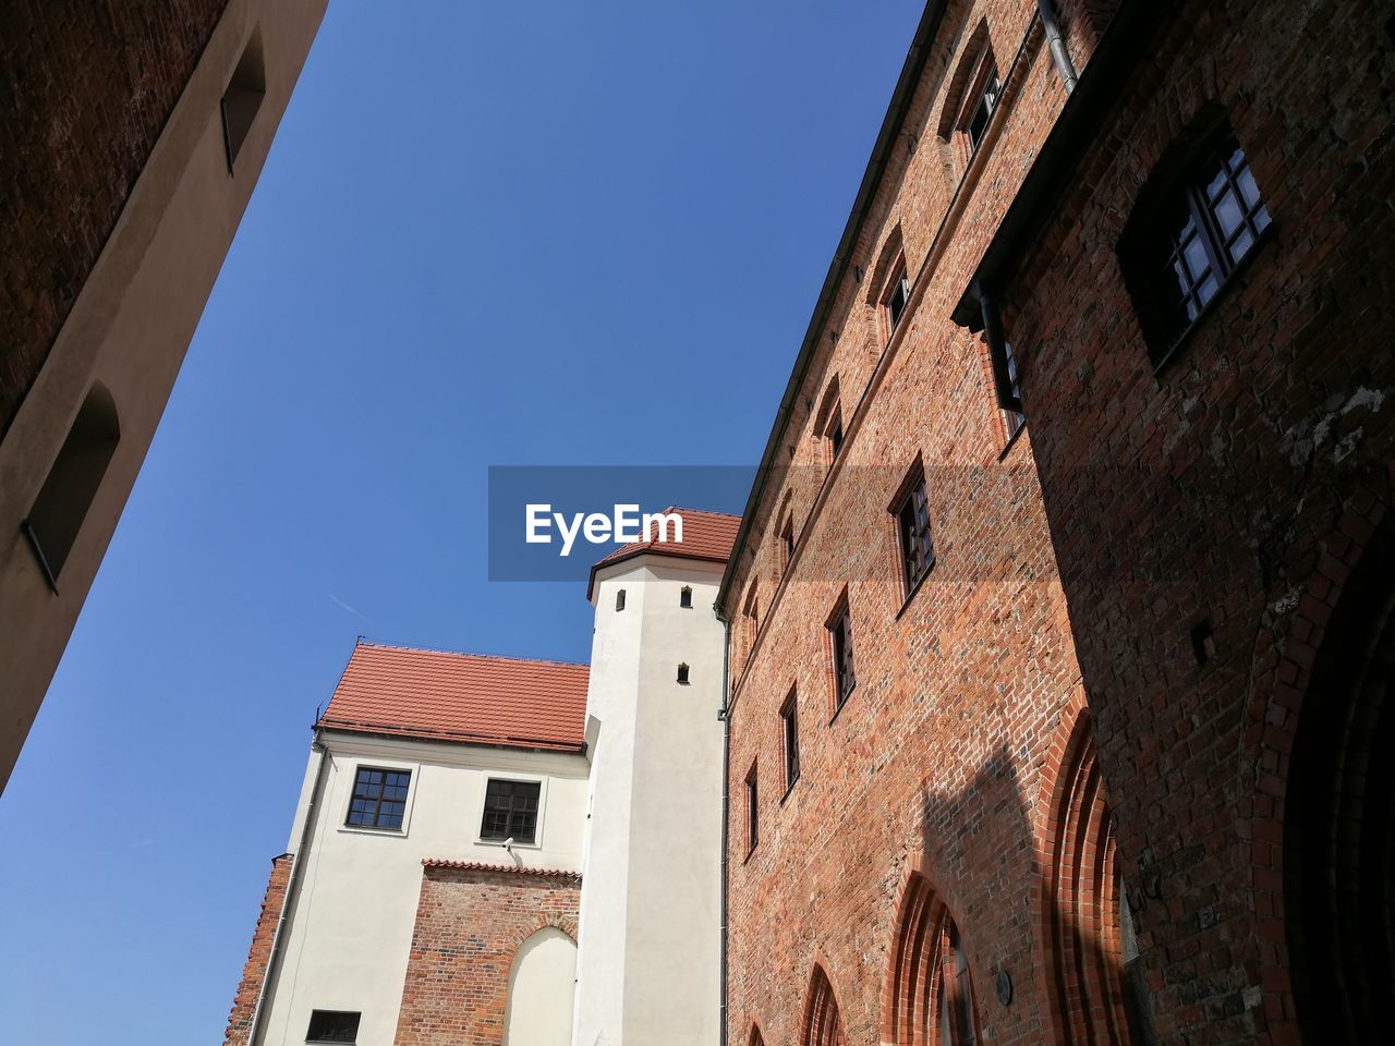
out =
{"type": "Polygon", "coordinates": [[[428,865],[412,932],[398,1046],[498,1046],[509,969],[544,926],[576,940],[580,876],[428,865]]]}

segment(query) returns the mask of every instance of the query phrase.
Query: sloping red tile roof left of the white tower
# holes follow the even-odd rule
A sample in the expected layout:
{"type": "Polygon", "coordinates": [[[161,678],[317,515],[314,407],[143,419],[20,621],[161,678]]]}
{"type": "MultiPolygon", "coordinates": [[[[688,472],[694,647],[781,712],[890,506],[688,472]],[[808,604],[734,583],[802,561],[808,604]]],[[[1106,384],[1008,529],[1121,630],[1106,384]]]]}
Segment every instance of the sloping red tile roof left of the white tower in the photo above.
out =
{"type": "Polygon", "coordinates": [[[319,717],[326,729],[578,750],[586,665],[359,643],[319,717]]]}

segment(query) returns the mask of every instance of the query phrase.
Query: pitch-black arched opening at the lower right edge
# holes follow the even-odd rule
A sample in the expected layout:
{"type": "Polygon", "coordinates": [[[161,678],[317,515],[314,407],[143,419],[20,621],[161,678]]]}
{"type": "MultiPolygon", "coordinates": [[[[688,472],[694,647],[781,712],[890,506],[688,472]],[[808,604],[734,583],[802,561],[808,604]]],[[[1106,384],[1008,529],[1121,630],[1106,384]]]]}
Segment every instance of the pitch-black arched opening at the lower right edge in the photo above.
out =
{"type": "Polygon", "coordinates": [[[1387,523],[1328,619],[1285,784],[1283,922],[1304,1043],[1385,1042],[1395,1024],[1392,681],[1387,523]]]}

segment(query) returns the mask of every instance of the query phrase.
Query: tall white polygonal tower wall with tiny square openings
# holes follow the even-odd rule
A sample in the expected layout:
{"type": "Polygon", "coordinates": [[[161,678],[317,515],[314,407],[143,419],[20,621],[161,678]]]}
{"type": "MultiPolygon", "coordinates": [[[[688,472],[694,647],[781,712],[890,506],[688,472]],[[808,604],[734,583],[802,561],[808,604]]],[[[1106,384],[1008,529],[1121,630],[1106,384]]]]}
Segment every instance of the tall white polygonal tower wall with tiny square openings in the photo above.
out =
{"type": "Polygon", "coordinates": [[[578,1046],[717,1040],[723,566],[644,555],[597,575],[578,1046]],[[684,586],[692,607],[679,605],[684,586]],[[625,589],[625,609],[615,593],[625,589]],[[689,683],[677,682],[679,662],[689,683]]]}

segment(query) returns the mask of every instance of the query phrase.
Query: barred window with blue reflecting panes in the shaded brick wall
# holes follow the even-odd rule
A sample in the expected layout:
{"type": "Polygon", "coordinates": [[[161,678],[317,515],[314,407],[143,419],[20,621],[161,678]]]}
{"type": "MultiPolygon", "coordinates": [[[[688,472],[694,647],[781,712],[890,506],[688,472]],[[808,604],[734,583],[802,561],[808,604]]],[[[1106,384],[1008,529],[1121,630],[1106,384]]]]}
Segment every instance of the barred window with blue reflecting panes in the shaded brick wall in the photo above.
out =
{"type": "Polygon", "coordinates": [[[1159,227],[1158,325],[1163,350],[1201,315],[1269,226],[1269,212],[1233,141],[1207,155],[1159,227]]]}

